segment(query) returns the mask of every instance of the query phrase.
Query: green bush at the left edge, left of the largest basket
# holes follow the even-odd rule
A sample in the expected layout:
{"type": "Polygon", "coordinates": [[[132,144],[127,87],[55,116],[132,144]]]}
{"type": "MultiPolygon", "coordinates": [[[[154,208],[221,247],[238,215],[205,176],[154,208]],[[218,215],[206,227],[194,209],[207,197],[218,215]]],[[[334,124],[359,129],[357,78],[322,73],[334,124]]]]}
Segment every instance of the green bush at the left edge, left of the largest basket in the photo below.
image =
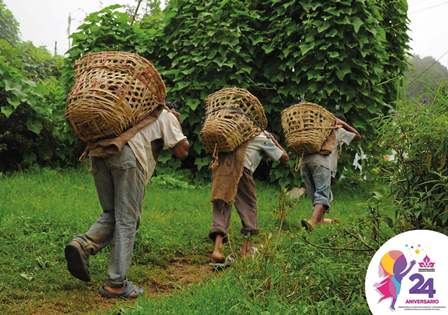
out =
{"type": "Polygon", "coordinates": [[[43,48],[0,39],[0,172],[74,162],[60,64],[43,48]]]}

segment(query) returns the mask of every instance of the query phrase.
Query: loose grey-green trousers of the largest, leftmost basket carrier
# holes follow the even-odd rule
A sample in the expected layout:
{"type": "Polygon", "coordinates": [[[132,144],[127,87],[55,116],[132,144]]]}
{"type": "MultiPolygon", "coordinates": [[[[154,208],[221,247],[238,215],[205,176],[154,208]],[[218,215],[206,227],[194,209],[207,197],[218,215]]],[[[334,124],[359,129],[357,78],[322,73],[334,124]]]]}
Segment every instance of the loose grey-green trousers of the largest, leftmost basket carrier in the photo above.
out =
{"type": "Polygon", "coordinates": [[[112,157],[93,158],[92,173],[103,212],[90,229],[75,240],[86,254],[92,255],[112,245],[107,285],[121,287],[127,281],[140,222],[145,190],[143,169],[126,145],[112,157]]]}

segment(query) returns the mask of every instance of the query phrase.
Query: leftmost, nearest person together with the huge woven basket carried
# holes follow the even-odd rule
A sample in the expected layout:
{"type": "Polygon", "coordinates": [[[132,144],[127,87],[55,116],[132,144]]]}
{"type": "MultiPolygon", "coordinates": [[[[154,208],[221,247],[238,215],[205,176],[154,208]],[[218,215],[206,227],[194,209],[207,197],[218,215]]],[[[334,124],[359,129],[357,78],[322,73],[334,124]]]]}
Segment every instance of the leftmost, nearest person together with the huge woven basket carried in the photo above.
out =
{"type": "Polygon", "coordinates": [[[108,298],[136,298],[143,288],[128,281],[127,272],[145,185],[162,149],[185,159],[189,143],[179,114],[165,107],[159,73],[146,59],[125,52],[90,53],[75,70],[66,116],[87,143],[82,157],[91,158],[102,213],[65,247],[67,267],[74,277],[90,281],[89,256],[110,244],[108,279],[99,292],[108,298]]]}

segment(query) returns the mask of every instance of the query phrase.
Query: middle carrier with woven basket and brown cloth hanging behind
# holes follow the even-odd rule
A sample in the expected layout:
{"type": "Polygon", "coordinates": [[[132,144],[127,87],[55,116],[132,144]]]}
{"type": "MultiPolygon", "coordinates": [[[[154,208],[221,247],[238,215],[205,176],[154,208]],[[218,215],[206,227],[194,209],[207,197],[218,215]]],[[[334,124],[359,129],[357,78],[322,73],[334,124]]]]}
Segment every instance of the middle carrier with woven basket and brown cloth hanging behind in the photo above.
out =
{"type": "MultiPolygon", "coordinates": [[[[225,261],[223,243],[227,241],[232,204],[241,219],[245,240],[241,255],[251,248],[250,236],[258,233],[255,182],[252,177],[263,157],[288,161],[288,154],[274,137],[264,131],[267,119],[260,101],[249,91],[221,89],[206,100],[206,119],[201,139],[213,152],[212,225],[209,237],[215,246],[211,259],[225,261]]],[[[216,265],[217,266],[217,265],[216,265]]]]}

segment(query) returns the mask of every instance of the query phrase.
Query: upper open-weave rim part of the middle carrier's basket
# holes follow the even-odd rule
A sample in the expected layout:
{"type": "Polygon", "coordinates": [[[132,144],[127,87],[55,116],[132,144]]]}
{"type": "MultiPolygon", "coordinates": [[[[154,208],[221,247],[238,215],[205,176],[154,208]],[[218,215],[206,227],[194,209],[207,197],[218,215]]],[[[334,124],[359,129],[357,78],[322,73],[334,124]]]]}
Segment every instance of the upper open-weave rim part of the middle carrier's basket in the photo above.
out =
{"type": "Polygon", "coordinates": [[[221,89],[207,97],[205,116],[222,109],[238,109],[260,129],[266,129],[268,120],[263,105],[249,91],[236,87],[221,89]]]}

